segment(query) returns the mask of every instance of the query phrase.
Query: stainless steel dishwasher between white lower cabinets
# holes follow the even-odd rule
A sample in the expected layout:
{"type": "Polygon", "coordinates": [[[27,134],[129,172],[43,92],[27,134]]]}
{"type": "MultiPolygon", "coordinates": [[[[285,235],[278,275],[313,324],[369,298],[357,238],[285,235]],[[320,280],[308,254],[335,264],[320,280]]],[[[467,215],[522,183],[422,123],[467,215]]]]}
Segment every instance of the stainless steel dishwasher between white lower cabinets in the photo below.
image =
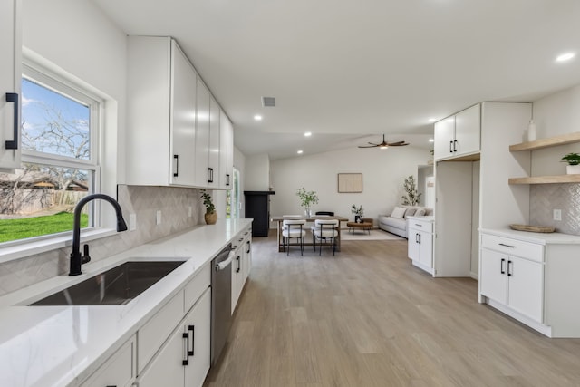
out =
{"type": "Polygon", "coordinates": [[[218,361],[232,324],[232,244],[211,261],[211,365],[218,361]]]}

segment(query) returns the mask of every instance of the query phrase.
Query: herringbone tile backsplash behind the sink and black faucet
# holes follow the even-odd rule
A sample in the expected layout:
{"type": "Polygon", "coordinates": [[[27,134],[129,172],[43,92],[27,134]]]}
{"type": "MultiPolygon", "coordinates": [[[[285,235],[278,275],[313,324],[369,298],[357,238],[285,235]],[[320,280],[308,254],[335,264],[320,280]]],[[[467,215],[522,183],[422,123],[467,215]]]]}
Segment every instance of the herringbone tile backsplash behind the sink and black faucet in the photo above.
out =
{"type": "MultiPolygon", "coordinates": [[[[204,223],[199,189],[120,185],[118,201],[128,225],[129,214],[136,215],[137,229],[90,242],[93,261],[204,223]],[[162,214],[160,225],[157,210],[162,214]]],[[[71,248],[64,247],[0,264],[0,295],[67,273],[70,254],[71,248]]]]}

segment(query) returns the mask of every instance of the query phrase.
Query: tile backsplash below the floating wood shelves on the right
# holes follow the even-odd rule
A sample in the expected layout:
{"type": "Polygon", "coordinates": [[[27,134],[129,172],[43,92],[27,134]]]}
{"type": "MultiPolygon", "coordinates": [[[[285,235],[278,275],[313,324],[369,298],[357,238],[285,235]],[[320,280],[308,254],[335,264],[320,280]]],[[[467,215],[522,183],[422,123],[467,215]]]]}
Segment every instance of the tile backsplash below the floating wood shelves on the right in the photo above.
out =
{"type": "Polygon", "coordinates": [[[580,236],[580,184],[532,185],[529,194],[530,225],[580,236]],[[562,210],[562,220],[554,220],[554,209],[562,210]]]}

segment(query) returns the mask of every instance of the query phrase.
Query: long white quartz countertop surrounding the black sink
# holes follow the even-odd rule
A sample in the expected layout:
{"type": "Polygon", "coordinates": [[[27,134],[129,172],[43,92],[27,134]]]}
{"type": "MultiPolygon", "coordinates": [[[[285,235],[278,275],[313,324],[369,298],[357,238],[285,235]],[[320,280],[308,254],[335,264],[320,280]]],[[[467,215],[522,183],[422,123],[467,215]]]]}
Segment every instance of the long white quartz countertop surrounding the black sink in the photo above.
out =
{"type": "Polygon", "coordinates": [[[207,265],[251,219],[218,220],[0,297],[0,386],[75,386],[207,265]],[[27,306],[128,260],[186,260],[127,305],[27,306]]]}

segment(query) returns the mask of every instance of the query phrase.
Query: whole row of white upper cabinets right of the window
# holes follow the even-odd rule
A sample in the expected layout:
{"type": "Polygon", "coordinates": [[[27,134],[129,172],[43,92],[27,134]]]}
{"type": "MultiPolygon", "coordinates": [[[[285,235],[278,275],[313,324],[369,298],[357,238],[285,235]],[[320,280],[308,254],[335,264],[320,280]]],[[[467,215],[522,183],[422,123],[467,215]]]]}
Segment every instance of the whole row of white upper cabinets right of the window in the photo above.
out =
{"type": "Polygon", "coordinates": [[[233,139],[220,140],[218,102],[179,45],[130,36],[128,53],[127,184],[226,189],[220,161],[233,139]]]}

